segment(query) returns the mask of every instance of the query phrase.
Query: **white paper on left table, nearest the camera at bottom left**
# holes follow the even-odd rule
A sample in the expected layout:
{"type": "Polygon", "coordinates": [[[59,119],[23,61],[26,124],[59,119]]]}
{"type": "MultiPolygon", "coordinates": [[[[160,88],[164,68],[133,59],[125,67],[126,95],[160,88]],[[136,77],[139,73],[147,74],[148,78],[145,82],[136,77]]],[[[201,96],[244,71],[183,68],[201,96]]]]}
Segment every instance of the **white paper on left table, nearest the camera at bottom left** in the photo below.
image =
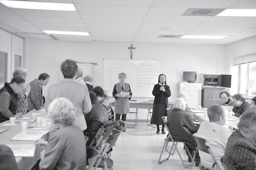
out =
{"type": "Polygon", "coordinates": [[[35,145],[7,145],[13,151],[15,157],[34,157],[35,145]]]}

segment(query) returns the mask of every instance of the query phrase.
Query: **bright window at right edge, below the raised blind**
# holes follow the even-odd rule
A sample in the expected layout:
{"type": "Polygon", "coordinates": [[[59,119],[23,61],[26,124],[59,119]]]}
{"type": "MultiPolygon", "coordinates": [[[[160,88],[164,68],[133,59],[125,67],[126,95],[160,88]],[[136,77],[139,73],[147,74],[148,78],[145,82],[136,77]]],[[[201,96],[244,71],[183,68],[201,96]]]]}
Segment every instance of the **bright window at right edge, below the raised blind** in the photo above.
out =
{"type": "Polygon", "coordinates": [[[256,96],[256,62],[239,65],[239,93],[256,96]]]}

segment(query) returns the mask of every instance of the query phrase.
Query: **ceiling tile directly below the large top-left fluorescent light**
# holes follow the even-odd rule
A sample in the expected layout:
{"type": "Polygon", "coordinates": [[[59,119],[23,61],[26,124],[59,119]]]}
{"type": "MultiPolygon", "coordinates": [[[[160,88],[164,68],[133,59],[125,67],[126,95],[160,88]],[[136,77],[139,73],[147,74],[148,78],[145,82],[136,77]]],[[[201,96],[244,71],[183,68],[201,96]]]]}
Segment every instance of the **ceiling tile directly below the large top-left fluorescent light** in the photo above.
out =
{"type": "Polygon", "coordinates": [[[11,8],[11,10],[17,15],[80,18],[79,13],[76,11],[35,10],[35,9],[18,9],[18,8],[11,8]]]}

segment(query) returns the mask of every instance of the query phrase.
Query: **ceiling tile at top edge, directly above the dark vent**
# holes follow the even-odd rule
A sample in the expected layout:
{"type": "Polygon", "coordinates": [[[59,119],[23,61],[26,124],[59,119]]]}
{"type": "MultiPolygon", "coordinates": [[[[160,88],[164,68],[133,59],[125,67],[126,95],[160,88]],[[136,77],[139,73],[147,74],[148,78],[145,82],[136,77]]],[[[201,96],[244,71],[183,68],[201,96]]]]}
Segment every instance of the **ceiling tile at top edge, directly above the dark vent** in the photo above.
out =
{"type": "Polygon", "coordinates": [[[185,8],[227,8],[239,0],[154,0],[152,6],[185,8]]]}

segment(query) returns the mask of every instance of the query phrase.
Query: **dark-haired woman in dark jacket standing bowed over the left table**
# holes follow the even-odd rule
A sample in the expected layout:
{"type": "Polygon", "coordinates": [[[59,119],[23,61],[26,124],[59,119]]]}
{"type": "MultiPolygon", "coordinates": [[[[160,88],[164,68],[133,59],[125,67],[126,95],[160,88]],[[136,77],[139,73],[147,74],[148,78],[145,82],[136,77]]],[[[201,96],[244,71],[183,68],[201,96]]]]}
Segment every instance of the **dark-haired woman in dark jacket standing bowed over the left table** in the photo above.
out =
{"type": "Polygon", "coordinates": [[[28,97],[28,111],[33,109],[41,110],[44,108],[42,86],[46,86],[50,80],[47,73],[41,73],[38,78],[30,82],[30,94],[28,97]]]}

